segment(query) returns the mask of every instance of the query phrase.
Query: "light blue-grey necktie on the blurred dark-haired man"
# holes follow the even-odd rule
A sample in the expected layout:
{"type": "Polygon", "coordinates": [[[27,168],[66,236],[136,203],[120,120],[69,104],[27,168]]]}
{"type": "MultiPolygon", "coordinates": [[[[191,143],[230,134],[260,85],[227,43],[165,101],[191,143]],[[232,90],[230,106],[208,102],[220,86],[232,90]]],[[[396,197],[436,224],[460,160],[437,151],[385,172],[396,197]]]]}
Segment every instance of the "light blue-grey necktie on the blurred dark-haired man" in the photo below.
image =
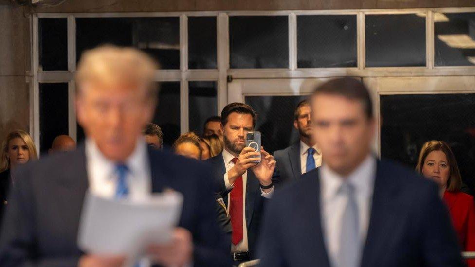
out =
{"type": "Polygon", "coordinates": [[[347,196],[348,203],[342,217],[340,249],[336,259],[337,267],[358,267],[360,264],[361,240],[355,188],[346,181],[340,187],[339,193],[347,196]]]}

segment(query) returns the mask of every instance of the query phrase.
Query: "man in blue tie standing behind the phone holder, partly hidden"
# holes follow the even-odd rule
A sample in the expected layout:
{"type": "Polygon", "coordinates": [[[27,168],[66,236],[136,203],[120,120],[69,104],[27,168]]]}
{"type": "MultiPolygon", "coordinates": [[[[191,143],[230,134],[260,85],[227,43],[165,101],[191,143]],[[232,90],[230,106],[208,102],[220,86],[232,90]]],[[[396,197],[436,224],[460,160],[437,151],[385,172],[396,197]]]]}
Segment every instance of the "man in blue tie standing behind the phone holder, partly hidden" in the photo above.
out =
{"type": "Polygon", "coordinates": [[[313,140],[311,108],[308,100],[298,103],[294,117],[293,126],[300,134],[299,142],[274,152],[282,183],[294,181],[302,174],[322,165],[322,153],[313,140]]]}

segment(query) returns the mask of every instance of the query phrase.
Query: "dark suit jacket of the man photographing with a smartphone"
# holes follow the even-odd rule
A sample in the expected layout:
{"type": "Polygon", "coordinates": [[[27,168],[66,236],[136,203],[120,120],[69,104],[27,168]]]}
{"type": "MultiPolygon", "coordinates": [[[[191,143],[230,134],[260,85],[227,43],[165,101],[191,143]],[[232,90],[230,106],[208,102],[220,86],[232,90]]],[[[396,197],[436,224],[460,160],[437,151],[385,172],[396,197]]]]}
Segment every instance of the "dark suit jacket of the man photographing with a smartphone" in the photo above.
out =
{"type": "MultiPolygon", "coordinates": [[[[224,184],[224,174],[226,173],[226,166],[224,165],[224,159],[222,153],[218,156],[215,156],[211,159],[206,160],[209,163],[215,172],[215,188],[216,191],[223,196],[224,203],[228,205],[228,193],[226,185],[224,184]]],[[[274,172],[273,182],[278,184],[278,177],[274,172]]],[[[261,196],[259,180],[252,172],[248,170],[247,172],[247,182],[246,182],[246,223],[247,223],[247,240],[249,245],[249,251],[251,252],[251,257],[255,258],[253,252],[255,252],[256,241],[259,237],[260,225],[262,220],[262,215],[264,211],[265,202],[267,198],[261,196]]]]}

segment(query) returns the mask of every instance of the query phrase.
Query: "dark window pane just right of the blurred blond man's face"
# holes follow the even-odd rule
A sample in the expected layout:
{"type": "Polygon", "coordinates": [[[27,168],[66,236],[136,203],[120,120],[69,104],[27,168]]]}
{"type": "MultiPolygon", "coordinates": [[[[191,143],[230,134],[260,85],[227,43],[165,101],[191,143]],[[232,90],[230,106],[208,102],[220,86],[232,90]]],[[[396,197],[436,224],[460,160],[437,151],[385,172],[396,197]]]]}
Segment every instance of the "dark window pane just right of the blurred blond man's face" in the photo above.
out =
{"type": "Polygon", "coordinates": [[[153,123],[162,128],[164,146],[171,146],[180,136],[180,82],[160,84],[153,123]]]}

